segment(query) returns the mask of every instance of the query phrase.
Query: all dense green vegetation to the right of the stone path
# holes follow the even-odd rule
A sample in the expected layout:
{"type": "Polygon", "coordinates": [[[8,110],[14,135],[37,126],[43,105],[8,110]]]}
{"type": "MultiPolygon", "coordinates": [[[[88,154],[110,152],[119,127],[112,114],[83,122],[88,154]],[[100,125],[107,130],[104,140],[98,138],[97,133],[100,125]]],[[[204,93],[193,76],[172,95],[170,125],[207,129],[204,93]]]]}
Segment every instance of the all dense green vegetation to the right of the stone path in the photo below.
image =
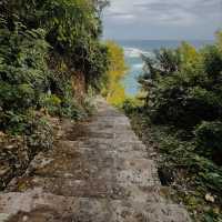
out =
{"type": "Polygon", "coordinates": [[[221,221],[222,33],[200,50],[183,42],[143,60],[144,104],[128,100],[123,108],[144,141],[157,143],[178,201],[195,221],[221,221]]]}

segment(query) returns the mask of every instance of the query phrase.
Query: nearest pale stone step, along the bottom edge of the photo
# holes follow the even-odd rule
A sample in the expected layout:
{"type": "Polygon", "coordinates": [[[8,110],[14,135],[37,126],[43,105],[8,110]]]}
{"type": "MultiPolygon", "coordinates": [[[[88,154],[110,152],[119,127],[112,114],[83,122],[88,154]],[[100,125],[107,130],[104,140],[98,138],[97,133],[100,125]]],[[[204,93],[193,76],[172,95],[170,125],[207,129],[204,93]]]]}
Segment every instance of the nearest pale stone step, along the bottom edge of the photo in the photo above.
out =
{"type": "MultiPolygon", "coordinates": [[[[0,195],[0,218],[8,222],[188,222],[176,204],[61,196],[32,190],[0,195]]],[[[3,221],[3,220],[2,220],[3,221]]]]}

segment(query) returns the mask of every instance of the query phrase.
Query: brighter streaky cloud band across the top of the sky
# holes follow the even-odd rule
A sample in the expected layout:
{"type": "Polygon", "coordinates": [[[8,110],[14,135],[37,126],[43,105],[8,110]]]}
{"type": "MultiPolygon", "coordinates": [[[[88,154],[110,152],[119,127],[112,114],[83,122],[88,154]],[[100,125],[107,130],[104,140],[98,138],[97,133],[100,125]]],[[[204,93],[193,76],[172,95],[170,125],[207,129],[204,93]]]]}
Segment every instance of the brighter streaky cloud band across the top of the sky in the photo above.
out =
{"type": "MultiPolygon", "coordinates": [[[[222,10],[222,0],[111,0],[111,7],[107,9],[107,17],[112,19],[134,19],[147,20],[147,22],[160,22],[161,24],[188,26],[199,22],[200,17],[212,17],[220,13],[220,2],[222,10]]],[[[222,13],[222,12],[221,12],[222,13]]]]}

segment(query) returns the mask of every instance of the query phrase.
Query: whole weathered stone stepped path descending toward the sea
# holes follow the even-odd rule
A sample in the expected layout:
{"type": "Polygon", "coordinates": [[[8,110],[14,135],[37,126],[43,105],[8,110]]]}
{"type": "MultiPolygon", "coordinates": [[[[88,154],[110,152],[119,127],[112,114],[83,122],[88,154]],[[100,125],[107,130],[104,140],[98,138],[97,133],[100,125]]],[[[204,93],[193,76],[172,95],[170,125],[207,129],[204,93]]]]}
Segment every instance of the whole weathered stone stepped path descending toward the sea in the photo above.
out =
{"type": "Polygon", "coordinates": [[[0,193],[0,222],[189,222],[160,195],[153,160],[129,119],[98,102],[92,121],[64,122],[53,150],[0,193]]]}

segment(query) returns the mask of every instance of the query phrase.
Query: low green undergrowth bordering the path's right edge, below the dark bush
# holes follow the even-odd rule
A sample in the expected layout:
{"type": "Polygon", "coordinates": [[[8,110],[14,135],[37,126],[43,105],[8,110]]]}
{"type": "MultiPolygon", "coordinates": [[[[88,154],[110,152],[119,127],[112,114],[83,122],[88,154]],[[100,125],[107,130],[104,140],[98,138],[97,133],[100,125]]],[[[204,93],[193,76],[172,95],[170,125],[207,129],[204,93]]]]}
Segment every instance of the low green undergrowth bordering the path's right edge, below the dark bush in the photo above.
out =
{"type": "Polygon", "coordinates": [[[174,180],[170,188],[164,188],[164,194],[183,203],[190,211],[193,221],[220,221],[222,169],[209,158],[196,153],[196,141],[186,131],[173,125],[153,124],[144,109],[131,109],[129,113],[137,134],[141,137],[148,149],[158,152],[158,165],[168,169],[174,180]],[[213,202],[205,195],[213,196],[213,202]]]}

